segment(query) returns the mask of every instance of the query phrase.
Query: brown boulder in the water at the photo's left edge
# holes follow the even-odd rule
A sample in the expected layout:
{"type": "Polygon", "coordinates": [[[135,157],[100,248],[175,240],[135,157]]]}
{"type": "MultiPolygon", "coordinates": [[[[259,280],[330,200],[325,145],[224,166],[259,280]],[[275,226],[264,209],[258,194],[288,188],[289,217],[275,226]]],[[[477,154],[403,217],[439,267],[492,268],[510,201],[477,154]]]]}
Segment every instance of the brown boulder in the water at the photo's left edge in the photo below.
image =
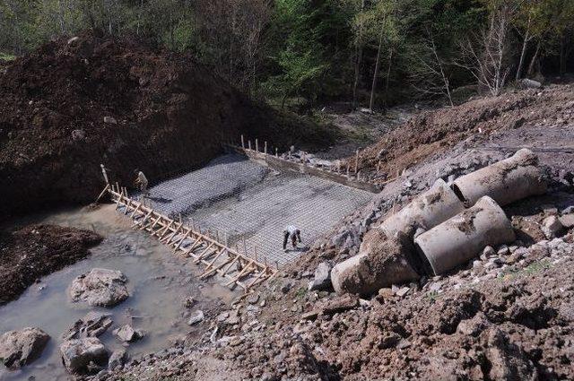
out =
{"type": "Polygon", "coordinates": [[[49,340],[48,333],[39,328],[9,331],[0,336],[0,359],[7,368],[21,368],[38,359],[49,340]]]}

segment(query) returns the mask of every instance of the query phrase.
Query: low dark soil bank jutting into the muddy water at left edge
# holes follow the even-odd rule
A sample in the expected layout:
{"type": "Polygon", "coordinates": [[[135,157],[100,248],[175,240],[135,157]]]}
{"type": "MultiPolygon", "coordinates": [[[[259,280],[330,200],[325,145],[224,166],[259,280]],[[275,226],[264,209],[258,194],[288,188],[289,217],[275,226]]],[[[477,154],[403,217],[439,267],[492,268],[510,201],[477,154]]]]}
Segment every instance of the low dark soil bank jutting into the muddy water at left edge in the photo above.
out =
{"type": "Polygon", "coordinates": [[[17,299],[41,276],[83,259],[101,239],[89,230],[55,225],[0,232],[0,306],[17,299]]]}

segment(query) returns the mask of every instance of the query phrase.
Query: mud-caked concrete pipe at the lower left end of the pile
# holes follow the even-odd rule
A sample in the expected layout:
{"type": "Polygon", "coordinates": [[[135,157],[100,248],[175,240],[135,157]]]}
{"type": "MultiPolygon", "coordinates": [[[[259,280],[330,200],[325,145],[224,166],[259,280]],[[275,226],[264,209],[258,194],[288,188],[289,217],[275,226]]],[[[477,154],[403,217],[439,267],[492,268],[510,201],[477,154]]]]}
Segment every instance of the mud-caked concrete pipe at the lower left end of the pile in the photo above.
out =
{"type": "Polygon", "coordinates": [[[379,289],[420,278],[413,269],[413,246],[404,234],[387,238],[381,229],[371,229],[359,254],[336,264],[331,281],[337,293],[370,295],[379,289]]]}

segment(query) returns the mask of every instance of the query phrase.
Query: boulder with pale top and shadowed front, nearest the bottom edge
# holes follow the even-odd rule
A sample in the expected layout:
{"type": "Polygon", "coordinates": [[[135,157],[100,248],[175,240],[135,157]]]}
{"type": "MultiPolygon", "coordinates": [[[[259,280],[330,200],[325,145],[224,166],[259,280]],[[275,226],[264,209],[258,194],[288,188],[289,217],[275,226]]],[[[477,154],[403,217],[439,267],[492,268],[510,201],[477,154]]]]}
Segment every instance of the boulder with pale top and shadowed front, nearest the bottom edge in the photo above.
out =
{"type": "Polygon", "coordinates": [[[60,353],[70,373],[91,373],[90,369],[108,365],[108,351],[96,337],[65,341],[60,345],[60,353]]]}

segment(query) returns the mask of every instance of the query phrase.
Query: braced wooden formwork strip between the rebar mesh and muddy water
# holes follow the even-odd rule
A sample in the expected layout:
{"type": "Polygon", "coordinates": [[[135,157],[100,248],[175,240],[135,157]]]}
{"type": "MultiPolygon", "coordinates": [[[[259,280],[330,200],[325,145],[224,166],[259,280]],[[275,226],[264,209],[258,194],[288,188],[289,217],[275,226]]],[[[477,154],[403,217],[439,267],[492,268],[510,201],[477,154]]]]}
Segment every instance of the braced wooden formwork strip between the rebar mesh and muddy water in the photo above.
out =
{"type": "Polygon", "coordinates": [[[116,203],[116,209],[129,214],[134,220],[132,228],[149,232],[171,247],[174,254],[191,258],[196,264],[203,264],[205,268],[200,275],[201,279],[219,274],[227,281],[226,286],[231,289],[239,286],[248,293],[258,284],[274,277],[278,271],[266,263],[258,262],[257,257],[250,258],[239,253],[183,221],[170,219],[145,203],[131,199],[126,195],[126,188],[116,184],[106,186],[105,190],[116,203]]]}

